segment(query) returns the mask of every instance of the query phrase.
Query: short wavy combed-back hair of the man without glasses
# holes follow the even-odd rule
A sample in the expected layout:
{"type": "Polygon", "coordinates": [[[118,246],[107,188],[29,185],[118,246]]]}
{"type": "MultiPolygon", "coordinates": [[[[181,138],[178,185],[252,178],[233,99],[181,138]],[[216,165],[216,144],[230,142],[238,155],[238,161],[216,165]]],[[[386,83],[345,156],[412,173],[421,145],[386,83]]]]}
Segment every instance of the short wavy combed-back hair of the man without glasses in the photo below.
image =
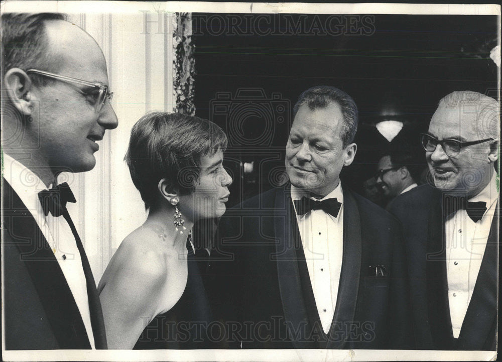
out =
{"type": "Polygon", "coordinates": [[[329,85],[318,85],[309,88],[298,97],[298,101],[293,107],[293,115],[296,115],[298,108],[304,104],[307,104],[309,109],[314,111],[317,108],[326,108],[330,103],[336,103],[341,108],[345,124],[340,138],[343,147],[346,147],[354,141],[357,132],[358,111],[352,97],[343,90],[329,85]]]}

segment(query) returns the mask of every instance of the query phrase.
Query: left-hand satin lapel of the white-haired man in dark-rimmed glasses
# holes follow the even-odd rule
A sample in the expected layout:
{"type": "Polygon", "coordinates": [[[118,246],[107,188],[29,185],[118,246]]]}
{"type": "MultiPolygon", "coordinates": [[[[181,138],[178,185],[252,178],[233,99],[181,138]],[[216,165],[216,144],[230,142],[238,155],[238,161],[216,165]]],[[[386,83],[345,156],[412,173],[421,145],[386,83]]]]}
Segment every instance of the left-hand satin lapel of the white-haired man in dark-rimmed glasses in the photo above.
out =
{"type": "Polygon", "coordinates": [[[446,238],[442,196],[432,200],[427,229],[427,304],[432,340],[439,349],[454,349],[446,275],[446,238]]]}

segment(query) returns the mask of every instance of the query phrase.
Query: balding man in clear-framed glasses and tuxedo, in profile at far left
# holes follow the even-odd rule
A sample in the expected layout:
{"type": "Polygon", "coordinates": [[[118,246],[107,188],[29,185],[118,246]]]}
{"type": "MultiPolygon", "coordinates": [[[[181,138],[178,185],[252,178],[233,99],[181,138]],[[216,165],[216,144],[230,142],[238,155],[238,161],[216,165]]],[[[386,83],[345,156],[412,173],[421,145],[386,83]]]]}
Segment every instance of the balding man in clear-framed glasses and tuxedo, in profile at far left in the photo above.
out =
{"type": "MultiPolygon", "coordinates": [[[[62,14],[2,15],[6,349],[106,348],[101,305],[61,172],[91,170],[117,127],[97,43],[62,14]]],[[[98,192],[98,191],[96,191],[98,192]]]]}

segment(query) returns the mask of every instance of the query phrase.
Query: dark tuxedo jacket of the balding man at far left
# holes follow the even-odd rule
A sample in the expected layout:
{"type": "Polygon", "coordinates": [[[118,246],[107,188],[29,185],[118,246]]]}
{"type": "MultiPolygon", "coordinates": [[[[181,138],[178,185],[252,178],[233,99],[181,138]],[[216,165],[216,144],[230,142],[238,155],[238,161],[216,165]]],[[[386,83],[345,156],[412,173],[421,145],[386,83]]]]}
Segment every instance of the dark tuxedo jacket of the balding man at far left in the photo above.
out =
{"type": "MultiPolygon", "coordinates": [[[[75,299],[30,211],[3,180],[6,349],[91,348],[75,299]]],[[[95,296],[97,298],[97,291],[95,296]]],[[[98,313],[99,314],[99,313],[98,313]]],[[[96,346],[106,348],[102,313],[96,346]]]]}

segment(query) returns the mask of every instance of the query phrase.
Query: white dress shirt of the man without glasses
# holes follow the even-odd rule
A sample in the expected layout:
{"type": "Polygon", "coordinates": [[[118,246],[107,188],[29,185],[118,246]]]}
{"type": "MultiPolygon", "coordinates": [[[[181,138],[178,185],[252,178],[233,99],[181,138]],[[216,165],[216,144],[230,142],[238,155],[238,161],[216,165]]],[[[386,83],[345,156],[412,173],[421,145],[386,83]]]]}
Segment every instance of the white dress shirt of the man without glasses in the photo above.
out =
{"type": "MultiPolygon", "coordinates": [[[[299,200],[307,193],[291,186],[291,197],[299,200]]],[[[335,313],[338,284],[343,259],[343,193],[341,183],[319,201],[335,198],[342,204],[338,216],[312,210],[298,216],[298,227],[314,292],[317,312],[325,333],[329,332],[335,313]]],[[[315,200],[315,198],[310,197],[315,200]]],[[[296,211],[296,208],[295,208],[296,211]]]]}

